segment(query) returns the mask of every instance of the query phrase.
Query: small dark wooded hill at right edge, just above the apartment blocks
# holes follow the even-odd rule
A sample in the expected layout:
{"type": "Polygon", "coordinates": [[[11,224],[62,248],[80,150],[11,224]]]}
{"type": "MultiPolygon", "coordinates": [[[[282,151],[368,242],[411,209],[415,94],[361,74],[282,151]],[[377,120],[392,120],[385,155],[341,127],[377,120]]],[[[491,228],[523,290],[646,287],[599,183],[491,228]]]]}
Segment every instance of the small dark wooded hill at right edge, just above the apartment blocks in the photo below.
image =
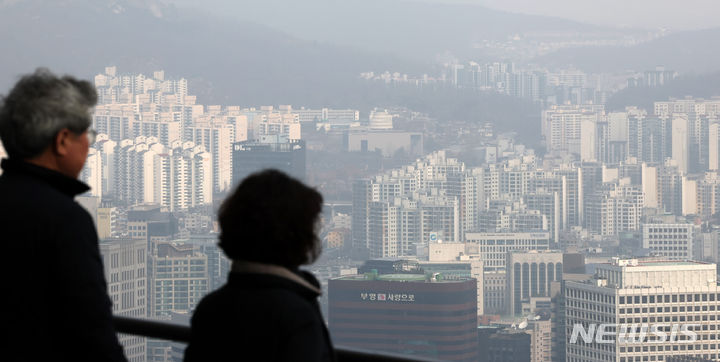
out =
{"type": "Polygon", "coordinates": [[[653,103],[664,101],[670,97],[683,98],[693,96],[697,98],[710,98],[720,96],[720,72],[681,76],[679,79],[662,87],[656,88],[628,88],[615,93],[607,104],[611,111],[623,110],[627,106],[639,106],[649,111],[653,103]]]}

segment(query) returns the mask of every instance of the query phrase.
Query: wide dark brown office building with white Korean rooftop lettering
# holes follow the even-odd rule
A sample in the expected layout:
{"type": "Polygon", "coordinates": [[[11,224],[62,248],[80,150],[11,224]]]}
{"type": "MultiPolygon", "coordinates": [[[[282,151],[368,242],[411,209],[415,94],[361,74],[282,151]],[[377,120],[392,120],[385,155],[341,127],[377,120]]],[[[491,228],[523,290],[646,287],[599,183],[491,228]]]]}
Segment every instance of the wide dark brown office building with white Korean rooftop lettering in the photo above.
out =
{"type": "Polygon", "coordinates": [[[329,281],[328,304],[336,345],[448,361],[478,359],[475,279],[347,276],[329,281]]]}

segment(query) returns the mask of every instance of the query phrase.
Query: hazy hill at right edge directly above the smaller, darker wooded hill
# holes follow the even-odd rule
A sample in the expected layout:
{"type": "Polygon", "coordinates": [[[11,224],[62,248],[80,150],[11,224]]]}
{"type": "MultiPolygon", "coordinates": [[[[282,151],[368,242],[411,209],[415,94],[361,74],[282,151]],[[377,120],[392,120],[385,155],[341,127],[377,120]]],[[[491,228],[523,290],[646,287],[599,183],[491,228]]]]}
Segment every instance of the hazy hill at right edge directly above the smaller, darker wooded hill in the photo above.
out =
{"type": "Polygon", "coordinates": [[[535,61],[547,66],[574,65],[588,72],[643,71],[658,65],[695,74],[720,71],[720,28],[685,31],[635,47],[564,49],[535,61]]]}

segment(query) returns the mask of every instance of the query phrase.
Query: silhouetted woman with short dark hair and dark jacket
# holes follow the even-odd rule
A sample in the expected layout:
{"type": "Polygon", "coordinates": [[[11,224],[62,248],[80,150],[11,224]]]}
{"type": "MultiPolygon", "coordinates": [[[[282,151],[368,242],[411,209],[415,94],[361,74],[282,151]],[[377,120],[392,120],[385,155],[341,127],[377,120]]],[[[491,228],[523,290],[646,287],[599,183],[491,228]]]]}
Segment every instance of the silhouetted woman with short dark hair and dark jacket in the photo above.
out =
{"type": "Polygon", "coordinates": [[[192,317],[186,361],[333,361],[317,297],[300,265],[320,253],[322,196],[282,172],[246,178],[220,208],[228,282],[192,317]]]}

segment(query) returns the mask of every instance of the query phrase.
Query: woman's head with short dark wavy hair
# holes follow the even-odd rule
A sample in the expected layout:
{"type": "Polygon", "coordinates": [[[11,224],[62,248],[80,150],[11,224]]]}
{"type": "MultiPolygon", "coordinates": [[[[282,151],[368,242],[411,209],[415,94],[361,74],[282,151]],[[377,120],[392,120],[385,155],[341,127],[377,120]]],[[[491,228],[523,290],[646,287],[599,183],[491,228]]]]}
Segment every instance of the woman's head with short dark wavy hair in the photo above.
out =
{"type": "Polygon", "coordinates": [[[248,176],[220,207],[220,247],[233,260],[295,268],[320,254],[322,196],[277,170],[248,176]]]}

